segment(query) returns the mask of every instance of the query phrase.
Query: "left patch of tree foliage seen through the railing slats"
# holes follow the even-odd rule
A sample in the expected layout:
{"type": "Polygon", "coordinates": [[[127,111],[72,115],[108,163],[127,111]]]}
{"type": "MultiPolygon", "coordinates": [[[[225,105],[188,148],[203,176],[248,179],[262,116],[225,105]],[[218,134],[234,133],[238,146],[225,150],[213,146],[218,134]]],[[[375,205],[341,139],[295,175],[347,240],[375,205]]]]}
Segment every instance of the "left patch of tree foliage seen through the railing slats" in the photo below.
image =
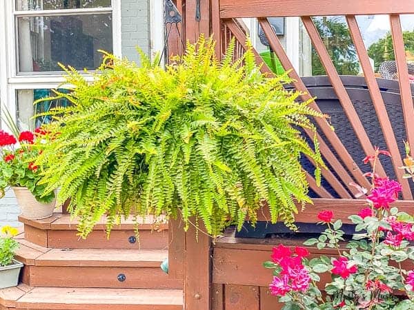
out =
{"type": "MultiPolygon", "coordinates": [[[[329,56],[340,75],[356,75],[359,71],[357,52],[346,22],[340,17],[313,19],[329,56]]],[[[312,75],[326,75],[315,48],[312,48],[312,75]]]]}

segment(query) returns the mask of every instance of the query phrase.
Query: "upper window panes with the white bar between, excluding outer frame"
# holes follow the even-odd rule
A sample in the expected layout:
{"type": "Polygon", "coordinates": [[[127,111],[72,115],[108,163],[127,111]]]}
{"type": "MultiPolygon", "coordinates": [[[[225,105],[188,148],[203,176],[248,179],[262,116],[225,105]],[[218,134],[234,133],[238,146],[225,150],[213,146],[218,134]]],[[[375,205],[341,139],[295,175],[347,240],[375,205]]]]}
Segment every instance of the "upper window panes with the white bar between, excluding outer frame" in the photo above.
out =
{"type": "Polygon", "coordinates": [[[96,69],[113,52],[111,0],[17,0],[17,74],[96,69]]]}

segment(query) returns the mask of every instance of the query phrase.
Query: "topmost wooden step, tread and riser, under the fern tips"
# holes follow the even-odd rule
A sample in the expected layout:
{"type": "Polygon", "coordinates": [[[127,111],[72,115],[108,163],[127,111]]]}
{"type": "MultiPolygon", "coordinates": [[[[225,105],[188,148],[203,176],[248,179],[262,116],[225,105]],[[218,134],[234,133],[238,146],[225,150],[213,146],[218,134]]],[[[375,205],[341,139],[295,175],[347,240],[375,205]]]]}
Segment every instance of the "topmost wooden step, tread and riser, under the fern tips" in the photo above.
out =
{"type": "Polygon", "coordinates": [[[24,224],[26,240],[48,248],[73,249],[166,249],[168,247],[168,223],[164,218],[148,216],[139,219],[139,236],[136,236],[132,217],[122,220],[106,235],[106,219],[95,226],[86,239],[77,236],[78,221],[69,214],[54,214],[44,220],[28,220],[19,217],[24,224]]]}

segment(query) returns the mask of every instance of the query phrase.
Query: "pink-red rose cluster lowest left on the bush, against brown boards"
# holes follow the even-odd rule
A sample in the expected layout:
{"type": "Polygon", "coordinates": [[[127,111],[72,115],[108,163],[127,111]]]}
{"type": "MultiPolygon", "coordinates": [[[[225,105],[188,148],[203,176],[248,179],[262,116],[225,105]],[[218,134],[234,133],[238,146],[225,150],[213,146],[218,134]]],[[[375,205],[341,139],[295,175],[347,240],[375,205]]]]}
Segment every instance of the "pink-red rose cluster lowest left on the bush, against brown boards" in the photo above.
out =
{"type": "Polygon", "coordinates": [[[269,289],[273,295],[284,296],[288,291],[306,291],[311,277],[302,264],[302,259],[309,256],[304,247],[290,248],[279,245],[273,248],[272,260],[280,267],[279,276],[273,277],[269,289]]]}

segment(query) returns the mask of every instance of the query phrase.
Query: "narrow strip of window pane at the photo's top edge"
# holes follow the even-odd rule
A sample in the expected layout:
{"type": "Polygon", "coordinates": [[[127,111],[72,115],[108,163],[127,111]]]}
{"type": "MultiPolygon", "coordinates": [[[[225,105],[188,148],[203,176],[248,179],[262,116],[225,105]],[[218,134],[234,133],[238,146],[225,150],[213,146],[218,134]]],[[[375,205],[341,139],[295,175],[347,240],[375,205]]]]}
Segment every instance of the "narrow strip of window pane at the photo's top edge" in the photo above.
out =
{"type": "Polygon", "coordinates": [[[110,0],[17,0],[16,2],[18,11],[109,7],[110,0]]]}

